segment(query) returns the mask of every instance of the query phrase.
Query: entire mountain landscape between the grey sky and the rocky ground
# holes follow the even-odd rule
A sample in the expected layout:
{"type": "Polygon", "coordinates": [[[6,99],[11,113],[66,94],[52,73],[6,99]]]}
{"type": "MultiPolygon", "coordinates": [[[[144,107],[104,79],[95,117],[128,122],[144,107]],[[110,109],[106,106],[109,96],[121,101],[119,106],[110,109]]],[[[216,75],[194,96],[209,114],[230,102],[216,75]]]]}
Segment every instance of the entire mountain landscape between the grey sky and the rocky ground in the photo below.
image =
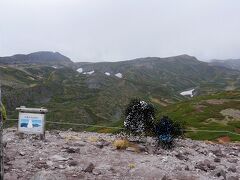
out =
{"type": "MultiPolygon", "coordinates": [[[[44,51],[1,57],[0,80],[9,118],[16,118],[15,108],[25,105],[48,108],[48,121],[119,127],[126,105],[137,97],[153,103],[158,118],[169,115],[186,122],[188,129],[238,132],[240,128],[239,118],[220,113],[240,109],[240,72],[189,55],[74,63],[60,53],[44,51]],[[192,89],[192,94],[186,93],[192,89]],[[207,103],[215,99],[224,103],[207,103]]],[[[56,124],[47,128],[115,131],[56,124]]],[[[193,139],[214,140],[223,135],[187,133],[193,139]]]]}

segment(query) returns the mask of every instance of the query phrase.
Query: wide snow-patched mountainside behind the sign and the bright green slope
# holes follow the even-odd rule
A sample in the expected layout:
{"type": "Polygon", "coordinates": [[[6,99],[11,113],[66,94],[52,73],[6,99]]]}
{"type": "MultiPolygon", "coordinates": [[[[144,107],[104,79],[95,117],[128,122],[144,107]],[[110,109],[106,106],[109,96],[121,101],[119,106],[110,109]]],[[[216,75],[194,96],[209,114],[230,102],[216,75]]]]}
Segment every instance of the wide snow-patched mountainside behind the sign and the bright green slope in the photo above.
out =
{"type": "Polygon", "coordinates": [[[195,95],[204,95],[240,87],[239,71],[210,66],[188,55],[61,68],[28,63],[0,65],[3,99],[12,117],[17,106],[44,106],[50,110],[50,121],[117,126],[134,97],[162,108],[189,99],[180,92],[192,88],[195,95]]]}

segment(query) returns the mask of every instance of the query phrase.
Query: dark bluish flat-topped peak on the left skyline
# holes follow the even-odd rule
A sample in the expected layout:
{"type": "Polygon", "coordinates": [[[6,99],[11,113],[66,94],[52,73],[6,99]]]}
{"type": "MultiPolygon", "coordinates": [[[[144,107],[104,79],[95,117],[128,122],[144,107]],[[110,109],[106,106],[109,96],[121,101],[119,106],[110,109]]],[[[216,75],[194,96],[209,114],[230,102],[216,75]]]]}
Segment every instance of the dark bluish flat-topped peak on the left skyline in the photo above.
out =
{"type": "Polygon", "coordinates": [[[31,54],[16,54],[14,56],[0,57],[2,65],[40,64],[71,66],[73,62],[58,52],[39,51],[31,54]]]}

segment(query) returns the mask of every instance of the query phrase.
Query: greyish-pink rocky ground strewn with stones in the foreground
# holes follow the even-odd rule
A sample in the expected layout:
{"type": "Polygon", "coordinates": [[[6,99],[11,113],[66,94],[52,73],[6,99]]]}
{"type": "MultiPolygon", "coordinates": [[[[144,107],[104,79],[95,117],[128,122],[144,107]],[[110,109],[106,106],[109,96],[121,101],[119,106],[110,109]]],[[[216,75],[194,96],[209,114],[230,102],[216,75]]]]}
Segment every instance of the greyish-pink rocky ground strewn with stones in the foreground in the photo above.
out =
{"type": "Polygon", "coordinates": [[[5,180],[79,179],[240,179],[240,144],[179,140],[174,150],[156,149],[153,140],[117,150],[119,137],[89,132],[46,133],[22,139],[4,130],[5,180]]]}

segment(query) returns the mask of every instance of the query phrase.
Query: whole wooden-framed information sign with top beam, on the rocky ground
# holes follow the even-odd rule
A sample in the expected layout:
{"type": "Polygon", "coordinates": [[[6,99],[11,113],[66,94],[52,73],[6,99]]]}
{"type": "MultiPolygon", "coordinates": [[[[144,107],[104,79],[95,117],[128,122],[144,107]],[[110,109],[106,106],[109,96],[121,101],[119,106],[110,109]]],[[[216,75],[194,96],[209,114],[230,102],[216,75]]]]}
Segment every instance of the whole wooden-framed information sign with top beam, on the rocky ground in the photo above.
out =
{"type": "Polygon", "coordinates": [[[18,132],[21,134],[37,134],[45,139],[45,117],[48,112],[44,108],[16,108],[19,111],[18,132]]]}

